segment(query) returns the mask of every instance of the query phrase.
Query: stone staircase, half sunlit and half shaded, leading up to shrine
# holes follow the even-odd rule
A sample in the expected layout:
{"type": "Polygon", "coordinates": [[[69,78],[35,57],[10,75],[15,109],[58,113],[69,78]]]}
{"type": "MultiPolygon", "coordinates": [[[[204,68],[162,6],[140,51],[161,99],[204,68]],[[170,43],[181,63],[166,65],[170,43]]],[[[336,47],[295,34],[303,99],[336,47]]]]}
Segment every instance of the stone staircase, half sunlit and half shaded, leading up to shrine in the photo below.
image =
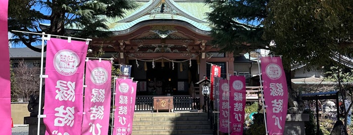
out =
{"type": "Polygon", "coordinates": [[[213,130],[203,112],[135,112],[132,134],[211,135],[213,130]]]}

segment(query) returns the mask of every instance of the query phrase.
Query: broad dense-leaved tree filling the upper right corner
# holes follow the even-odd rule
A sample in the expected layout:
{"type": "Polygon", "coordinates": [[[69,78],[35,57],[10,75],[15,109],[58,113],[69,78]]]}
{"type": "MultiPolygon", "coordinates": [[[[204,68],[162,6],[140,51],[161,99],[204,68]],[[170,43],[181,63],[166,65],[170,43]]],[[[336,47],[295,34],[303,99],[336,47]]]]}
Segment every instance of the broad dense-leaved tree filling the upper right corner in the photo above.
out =
{"type": "Polygon", "coordinates": [[[338,54],[352,56],[353,1],[270,1],[263,22],[271,51],[284,65],[327,66],[338,54]]]}

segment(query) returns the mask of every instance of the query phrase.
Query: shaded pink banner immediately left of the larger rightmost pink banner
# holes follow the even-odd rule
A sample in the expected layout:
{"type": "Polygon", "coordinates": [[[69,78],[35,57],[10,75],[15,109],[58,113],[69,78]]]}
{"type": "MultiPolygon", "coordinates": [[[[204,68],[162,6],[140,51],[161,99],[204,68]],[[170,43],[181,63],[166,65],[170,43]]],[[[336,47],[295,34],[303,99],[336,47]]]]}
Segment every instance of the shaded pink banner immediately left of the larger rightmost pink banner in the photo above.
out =
{"type": "Polygon", "coordinates": [[[243,124],[245,119],[246,86],[244,76],[230,77],[230,128],[232,135],[243,134],[243,124]]]}

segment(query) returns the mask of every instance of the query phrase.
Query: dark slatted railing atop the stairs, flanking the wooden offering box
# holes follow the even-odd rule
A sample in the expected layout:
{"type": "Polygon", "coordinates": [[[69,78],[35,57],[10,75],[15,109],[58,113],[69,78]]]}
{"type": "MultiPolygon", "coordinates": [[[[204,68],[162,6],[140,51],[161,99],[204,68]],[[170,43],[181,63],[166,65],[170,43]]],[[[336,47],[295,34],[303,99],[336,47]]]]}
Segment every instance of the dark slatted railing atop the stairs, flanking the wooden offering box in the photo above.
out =
{"type": "MultiPolygon", "coordinates": [[[[200,99],[192,97],[173,97],[174,111],[199,110],[200,99]]],[[[153,97],[136,97],[135,111],[154,111],[153,97]]]]}

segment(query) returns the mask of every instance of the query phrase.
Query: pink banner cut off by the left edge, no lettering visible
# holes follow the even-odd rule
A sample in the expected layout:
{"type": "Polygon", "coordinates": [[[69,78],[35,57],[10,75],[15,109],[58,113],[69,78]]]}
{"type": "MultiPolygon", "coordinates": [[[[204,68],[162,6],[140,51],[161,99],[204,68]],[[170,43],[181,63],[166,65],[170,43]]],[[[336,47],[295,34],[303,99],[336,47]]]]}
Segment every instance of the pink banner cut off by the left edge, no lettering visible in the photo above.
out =
{"type": "Polygon", "coordinates": [[[11,134],[11,83],[8,39],[8,1],[0,0],[0,134],[11,134]]]}

